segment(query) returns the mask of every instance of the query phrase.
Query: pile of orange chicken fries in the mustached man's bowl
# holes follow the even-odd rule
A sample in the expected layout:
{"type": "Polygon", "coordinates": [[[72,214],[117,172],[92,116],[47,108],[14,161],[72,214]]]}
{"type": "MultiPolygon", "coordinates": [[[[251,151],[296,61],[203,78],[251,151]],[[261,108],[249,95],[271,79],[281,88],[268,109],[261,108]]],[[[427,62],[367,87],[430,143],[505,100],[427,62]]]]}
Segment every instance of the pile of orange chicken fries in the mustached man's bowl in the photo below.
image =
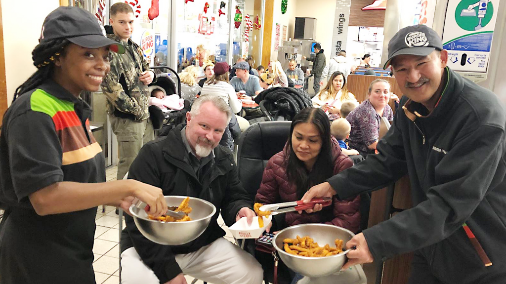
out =
{"type": "Polygon", "coordinates": [[[335,248],[328,244],[320,247],[310,236],[301,238],[299,235],[296,239],[283,239],[283,244],[285,252],[306,257],[326,257],[343,252],[343,240],[340,239],[335,239],[335,248]]]}

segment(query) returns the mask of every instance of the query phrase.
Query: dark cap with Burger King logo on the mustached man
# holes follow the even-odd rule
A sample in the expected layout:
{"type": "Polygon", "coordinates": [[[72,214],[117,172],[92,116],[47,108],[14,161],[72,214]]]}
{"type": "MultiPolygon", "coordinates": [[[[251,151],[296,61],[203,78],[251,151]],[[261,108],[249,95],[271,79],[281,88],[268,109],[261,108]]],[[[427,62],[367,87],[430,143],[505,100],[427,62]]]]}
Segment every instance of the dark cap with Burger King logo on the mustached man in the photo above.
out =
{"type": "Polygon", "coordinates": [[[428,56],[435,50],[443,50],[443,42],[436,31],[426,25],[402,28],[388,43],[388,60],[383,69],[387,69],[398,55],[428,56]]]}

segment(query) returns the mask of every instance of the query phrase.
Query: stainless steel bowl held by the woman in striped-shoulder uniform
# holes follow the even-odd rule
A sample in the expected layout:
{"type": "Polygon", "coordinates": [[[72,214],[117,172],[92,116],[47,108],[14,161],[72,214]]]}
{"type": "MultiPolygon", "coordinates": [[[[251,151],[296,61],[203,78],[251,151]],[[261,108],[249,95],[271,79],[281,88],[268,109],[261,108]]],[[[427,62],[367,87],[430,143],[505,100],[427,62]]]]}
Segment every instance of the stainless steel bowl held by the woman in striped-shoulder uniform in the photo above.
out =
{"type": "MultiPolygon", "coordinates": [[[[165,196],[167,206],[179,206],[186,196],[165,196]]],[[[209,225],[216,207],[205,200],[190,197],[188,204],[192,212],[188,214],[192,221],[186,222],[160,222],[148,219],[144,209],[130,206],[130,213],[134,216],[135,224],[146,239],[160,245],[179,246],[198,238],[209,225]]]]}

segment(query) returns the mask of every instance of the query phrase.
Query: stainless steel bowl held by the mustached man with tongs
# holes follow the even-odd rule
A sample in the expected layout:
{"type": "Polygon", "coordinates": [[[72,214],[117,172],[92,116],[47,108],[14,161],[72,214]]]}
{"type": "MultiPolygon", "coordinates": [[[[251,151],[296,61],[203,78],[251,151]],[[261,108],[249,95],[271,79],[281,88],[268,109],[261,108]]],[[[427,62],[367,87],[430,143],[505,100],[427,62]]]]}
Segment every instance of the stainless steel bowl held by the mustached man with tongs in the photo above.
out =
{"type": "Polygon", "coordinates": [[[335,247],[335,239],[341,239],[346,244],[355,234],[350,230],[333,225],[301,224],[287,227],[274,236],[272,244],[286,266],[305,276],[320,277],[338,272],[345,264],[346,255],[340,253],[327,257],[304,257],[285,252],[283,239],[294,239],[297,235],[301,237],[309,235],[321,247],[326,244],[335,247]]]}

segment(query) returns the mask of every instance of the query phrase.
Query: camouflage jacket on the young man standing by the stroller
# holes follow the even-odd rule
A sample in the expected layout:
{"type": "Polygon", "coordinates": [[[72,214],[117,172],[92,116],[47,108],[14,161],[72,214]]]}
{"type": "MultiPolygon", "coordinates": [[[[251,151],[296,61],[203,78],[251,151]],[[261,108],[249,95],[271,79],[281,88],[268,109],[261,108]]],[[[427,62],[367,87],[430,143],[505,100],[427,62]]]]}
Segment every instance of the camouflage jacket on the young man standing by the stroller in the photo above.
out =
{"type": "MultiPolygon", "coordinates": [[[[109,29],[111,30],[111,29],[109,29]]],[[[121,42],[113,33],[107,37],[121,42]]],[[[105,76],[101,87],[107,98],[107,113],[121,118],[142,121],[149,118],[148,86],[139,80],[139,74],[149,69],[149,62],[142,55],[140,46],[129,39],[122,55],[111,53],[111,71],[105,76]]],[[[153,82],[156,81],[156,76],[153,82]]]]}

